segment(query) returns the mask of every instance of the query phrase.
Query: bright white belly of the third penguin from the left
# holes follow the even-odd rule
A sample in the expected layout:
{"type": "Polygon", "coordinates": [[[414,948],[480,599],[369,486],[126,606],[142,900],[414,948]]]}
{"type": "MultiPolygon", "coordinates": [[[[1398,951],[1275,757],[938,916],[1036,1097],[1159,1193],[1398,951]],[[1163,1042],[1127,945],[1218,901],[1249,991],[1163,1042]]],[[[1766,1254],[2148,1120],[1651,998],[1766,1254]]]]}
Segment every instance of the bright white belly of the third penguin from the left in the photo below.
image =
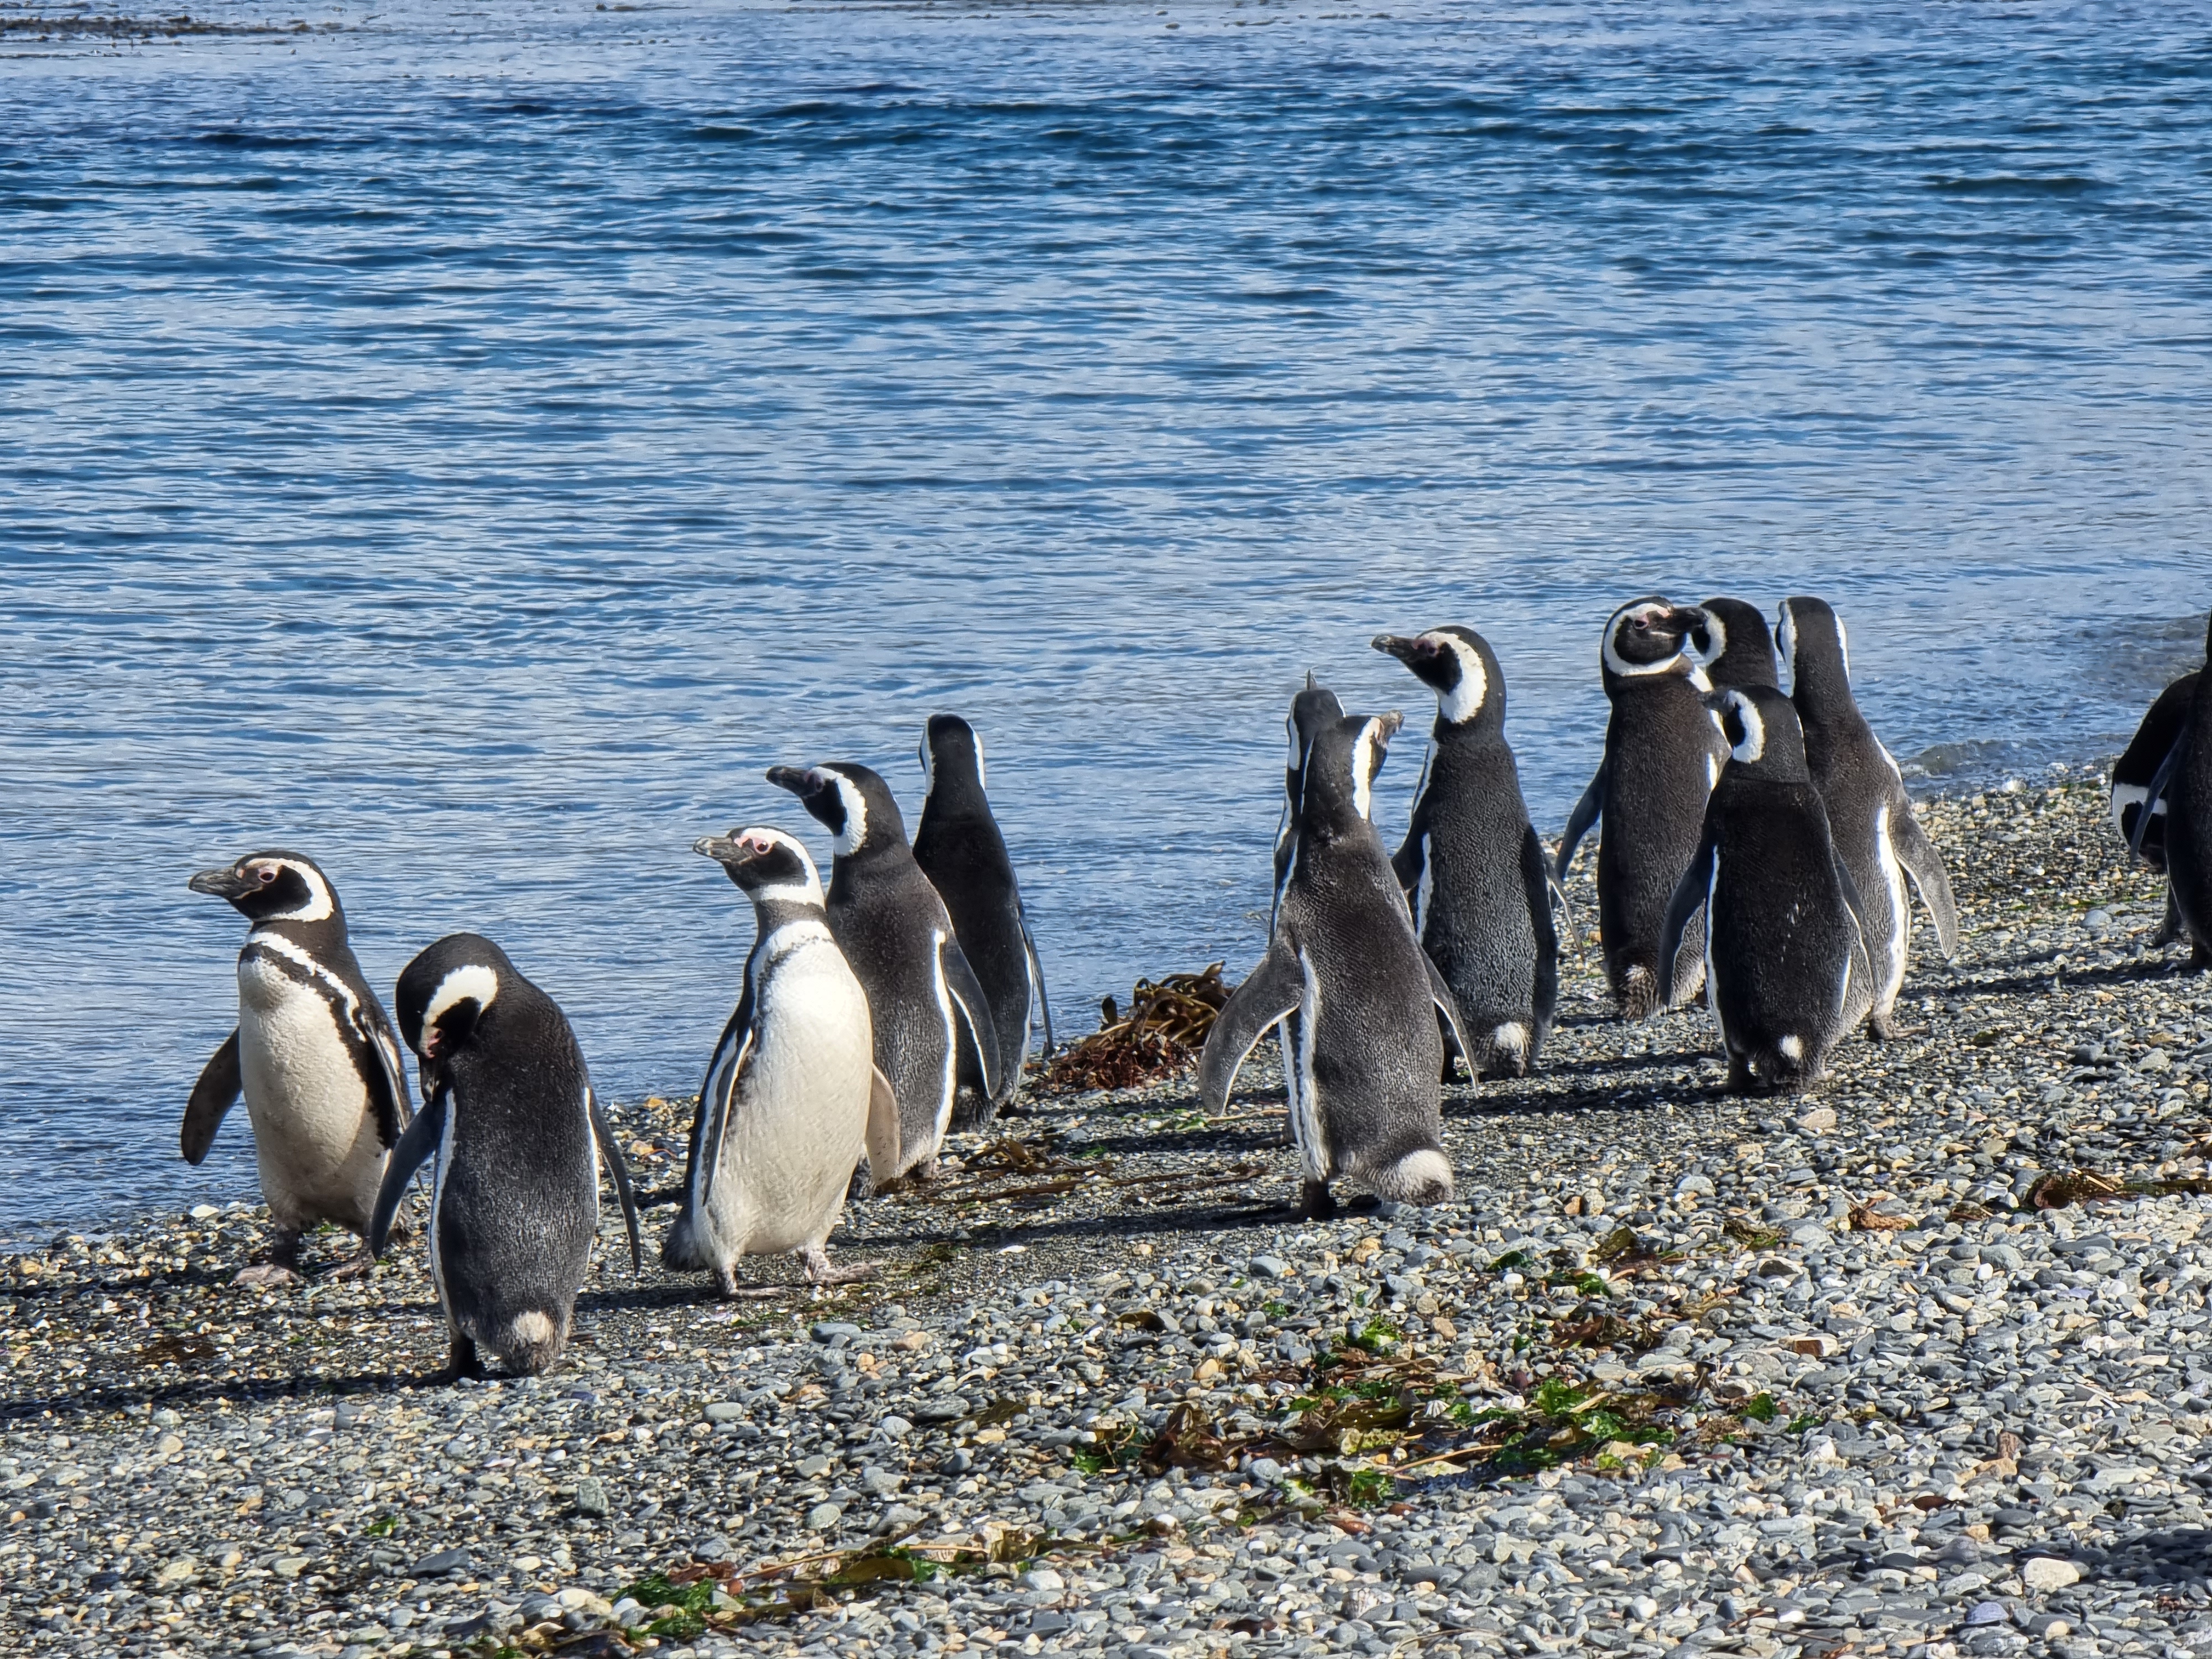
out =
{"type": "Polygon", "coordinates": [[[761,987],[759,1040],[737,1084],[708,1219],[741,1254],[818,1243],[867,1144],[867,998],[836,951],[785,958],[761,987]]]}

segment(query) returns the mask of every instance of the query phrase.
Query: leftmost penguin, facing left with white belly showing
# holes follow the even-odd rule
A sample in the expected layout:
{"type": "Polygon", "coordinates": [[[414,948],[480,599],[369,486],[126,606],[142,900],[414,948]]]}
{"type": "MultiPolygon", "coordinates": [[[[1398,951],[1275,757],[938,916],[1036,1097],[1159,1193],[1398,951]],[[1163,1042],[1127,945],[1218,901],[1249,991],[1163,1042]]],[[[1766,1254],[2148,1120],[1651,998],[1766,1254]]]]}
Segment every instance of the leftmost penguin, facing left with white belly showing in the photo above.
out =
{"type": "MultiPolygon", "coordinates": [[[[338,891],[312,858],[257,852],[201,869],[188,887],[228,898],[252,922],[239,951],[239,1026],[184,1108],[184,1159],[199,1164],[246,1095],[261,1197],[276,1239],[241,1285],[299,1279],[299,1237],[336,1221],[367,1237],[385,1155],[407,1130],[407,1082],[392,1020],[345,942],[338,891]]],[[[363,1250],[336,1267],[358,1274],[363,1250]]]]}

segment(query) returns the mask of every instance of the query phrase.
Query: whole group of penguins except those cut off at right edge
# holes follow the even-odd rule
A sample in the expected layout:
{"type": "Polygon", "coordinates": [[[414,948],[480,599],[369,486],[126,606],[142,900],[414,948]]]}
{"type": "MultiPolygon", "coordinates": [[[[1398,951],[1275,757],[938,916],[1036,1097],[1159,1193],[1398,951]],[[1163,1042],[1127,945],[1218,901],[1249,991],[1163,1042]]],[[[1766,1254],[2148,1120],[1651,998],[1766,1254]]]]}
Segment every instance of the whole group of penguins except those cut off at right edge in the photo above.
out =
{"type": "MultiPolygon", "coordinates": [[[[1478,1077],[1535,1066],[1557,1006],[1559,933],[1575,931],[1562,880],[1593,825],[1606,973],[1626,1018],[1703,984],[1741,1091],[1809,1086],[1860,1022],[1891,1033],[1907,883],[1949,956],[1949,880],[1851,697],[1834,611],[1783,602],[1778,639],[1787,697],[1754,606],[1621,606],[1599,648],[1613,706],[1604,761],[1555,856],[1528,818],[1504,737],[1504,675],[1478,633],[1374,641],[1438,703],[1396,854],[1376,830],[1374,781],[1402,717],[1345,714],[1307,677],[1287,721],[1270,945],[1199,1060],[1201,1099],[1221,1110],[1243,1060],[1281,1033],[1303,1214],[1329,1214],[1338,1181],[1405,1203],[1451,1197],[1442,1082],[1453,1057],[1478,1077]]],[[[661,1261],[712,1274],[726,1296],[774,1294],[739,1283],[748,1254],[796,1252],[812,1283],[865,1276],[827,1256],[860,1166],[874,1192],[929,1179],[945,1135],[989,1121],[1011,1097],[1037,1020],[1051,1046],[982,741],[936,714],[920,759],[911,845],[869,768],[768,772],[832,832],[827,891],[807,849],[779,830],[695,845],[752,900],[757,931],[706,1066],[661,1261]]],[[[641,1265],[622,1148],[560,1006],[498,945],[453,933],[400,973],[396,1037],[314,860],[259,852],[190,887],[252,925],[239,1026],[184,1115],[184,1155],[197,1164],[246,1099],[276,1237],[239,1281],[294,1279],[301,1232],[321,1221],[363,1237],[334,1270],[363,1272],[431,1161],[447,1376],[480,1376],[484,1354],[515,1374],[553,1365],[597,1232],[599,1161],[641,1265]],[[416,1055],[420,1115],[409,1115],[400,1037],[416,1055]]]]}

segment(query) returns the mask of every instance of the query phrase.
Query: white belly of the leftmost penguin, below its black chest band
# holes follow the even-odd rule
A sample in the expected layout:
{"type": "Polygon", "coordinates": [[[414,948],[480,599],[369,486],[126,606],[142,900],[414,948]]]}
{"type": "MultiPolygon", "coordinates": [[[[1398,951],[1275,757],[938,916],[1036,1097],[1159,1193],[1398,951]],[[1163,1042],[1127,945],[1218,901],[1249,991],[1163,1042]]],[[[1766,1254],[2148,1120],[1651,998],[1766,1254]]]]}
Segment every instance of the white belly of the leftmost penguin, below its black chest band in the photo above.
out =
{"type": "Polygon", "coordinates": [[[276,1225],[365,1232],[385,1172],[367,1084],[330,1000],[252,953],[239,962],[239,1077],[276,1225]]]}

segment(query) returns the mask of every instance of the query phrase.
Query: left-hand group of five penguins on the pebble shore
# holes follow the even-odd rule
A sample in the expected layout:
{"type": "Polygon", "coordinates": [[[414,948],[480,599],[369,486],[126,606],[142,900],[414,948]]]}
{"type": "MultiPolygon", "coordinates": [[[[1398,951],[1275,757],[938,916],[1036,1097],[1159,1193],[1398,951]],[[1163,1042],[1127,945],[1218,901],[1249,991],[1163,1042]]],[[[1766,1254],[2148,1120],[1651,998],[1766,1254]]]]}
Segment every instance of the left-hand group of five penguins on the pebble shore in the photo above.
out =
{"type": "MultiPolygon", "coordinates": [[[[911,845],[891,787],[869,768],[768,772],[832,832],[827,891],[781,830],[695,843],[752,900],[757,931],[708,1060],[661,1261],[714,1274],[726,1296],[776,1294],[739,1285],[748,1254],[801,1252],[814,1283],[865,1276],[834,1267],[825,1250],[863,1157],[872,1190],[927,1179],[951,1128],[989,1121],[1009,1099],[1037,1018],[1051,1046],[1044,975],[984,796],[982,741],[936,714],[922,768],[911,845]]],[[[602,1159],[641,1267],[628,1168],[553,998],[478,933],[416,956],[396,989],[422,1095],[411,1117],[398,1040],[323,869],[257,852],[190,887],[250,922],[237,1031],[184,1113],[192,1164],[241,1095],[252,1119],[276,1237],[239,1283],[294,1281],[301,1232],[323,1221],[363,1239],[334,1274],[365,1272],[434,1161],[427,1230],[451,1336],[445,1378],[482,1376],[484,1354],[522,1376],[551,1367],[597,1234],[602,1159]]]]}

